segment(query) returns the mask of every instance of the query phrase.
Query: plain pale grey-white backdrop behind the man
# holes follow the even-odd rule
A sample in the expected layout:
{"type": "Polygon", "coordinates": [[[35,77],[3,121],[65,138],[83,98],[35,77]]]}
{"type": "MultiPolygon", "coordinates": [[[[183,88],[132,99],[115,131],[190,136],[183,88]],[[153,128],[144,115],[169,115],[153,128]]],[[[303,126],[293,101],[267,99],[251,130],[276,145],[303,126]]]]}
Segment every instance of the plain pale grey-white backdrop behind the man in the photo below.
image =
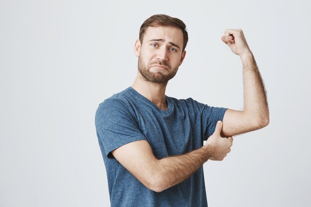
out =
{"type": "Polygon", "coordinates": [[[106,207],[94,116],[129,87],[133,48],[153,14],[182,19],[187,55],[166,95],[243,107],[241,28],[268,92],[268,127],[204,164],[210,207],[311,206],[308,1],[0,0],[0,206],[106,207]]]}

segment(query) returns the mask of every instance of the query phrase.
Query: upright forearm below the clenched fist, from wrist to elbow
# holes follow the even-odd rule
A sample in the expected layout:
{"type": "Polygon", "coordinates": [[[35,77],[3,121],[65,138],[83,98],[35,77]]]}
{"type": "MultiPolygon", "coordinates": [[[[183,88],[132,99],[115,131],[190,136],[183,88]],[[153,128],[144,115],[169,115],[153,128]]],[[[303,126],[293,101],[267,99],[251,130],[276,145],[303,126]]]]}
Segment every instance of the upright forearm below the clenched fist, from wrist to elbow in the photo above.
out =
{"type": "Polygon", "coordinates": [[[269,109],[263,80],[251,52],[240,55],[243,65],[244,113],[264,127],[269,123],[269,109]]]}

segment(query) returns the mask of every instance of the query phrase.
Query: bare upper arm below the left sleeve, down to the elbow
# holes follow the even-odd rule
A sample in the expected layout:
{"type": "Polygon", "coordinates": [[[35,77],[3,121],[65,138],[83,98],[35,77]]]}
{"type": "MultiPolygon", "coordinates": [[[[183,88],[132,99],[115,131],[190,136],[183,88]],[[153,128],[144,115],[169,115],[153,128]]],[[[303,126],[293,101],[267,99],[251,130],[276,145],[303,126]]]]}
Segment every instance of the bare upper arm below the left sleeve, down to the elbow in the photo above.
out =
{"type": "Polygon", "coordinates": [[[147,140],[124,144],[111,153],[143,185],[151,188],[158,160],[147,140]]]}

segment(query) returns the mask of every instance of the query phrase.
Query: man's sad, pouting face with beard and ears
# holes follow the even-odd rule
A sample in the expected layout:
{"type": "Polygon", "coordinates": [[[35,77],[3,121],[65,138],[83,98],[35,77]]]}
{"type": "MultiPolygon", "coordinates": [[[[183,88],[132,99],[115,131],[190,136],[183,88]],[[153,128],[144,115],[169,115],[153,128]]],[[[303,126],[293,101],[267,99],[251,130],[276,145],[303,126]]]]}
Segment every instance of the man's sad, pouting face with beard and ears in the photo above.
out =
{"type": "Polygon", "coordinates": [[[182,51],[183,34],[175,27],[148,27],[143,37],[135,43],[138,70],[145,80],[166,84],[182,64],[186,51],[182,51]]]}

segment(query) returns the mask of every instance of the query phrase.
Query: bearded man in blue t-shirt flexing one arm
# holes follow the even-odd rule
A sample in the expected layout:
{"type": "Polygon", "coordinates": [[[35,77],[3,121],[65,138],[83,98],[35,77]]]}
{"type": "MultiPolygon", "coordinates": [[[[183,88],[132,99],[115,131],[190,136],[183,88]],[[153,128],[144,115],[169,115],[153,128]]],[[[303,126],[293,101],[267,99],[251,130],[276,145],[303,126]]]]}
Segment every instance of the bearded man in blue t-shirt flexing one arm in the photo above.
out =
{"type": "Polygon", "coordinates": [[[112,207],[206,207],[203,163],[223,160],[232,136],[268,125],[264,85],[242,30],[228,29],[222,40],[242,61],[243,111],[167,97],[186,55],[186,26],[167,15],[141,26],[133,85],[101,103],[95,117],[112,207]]]}

